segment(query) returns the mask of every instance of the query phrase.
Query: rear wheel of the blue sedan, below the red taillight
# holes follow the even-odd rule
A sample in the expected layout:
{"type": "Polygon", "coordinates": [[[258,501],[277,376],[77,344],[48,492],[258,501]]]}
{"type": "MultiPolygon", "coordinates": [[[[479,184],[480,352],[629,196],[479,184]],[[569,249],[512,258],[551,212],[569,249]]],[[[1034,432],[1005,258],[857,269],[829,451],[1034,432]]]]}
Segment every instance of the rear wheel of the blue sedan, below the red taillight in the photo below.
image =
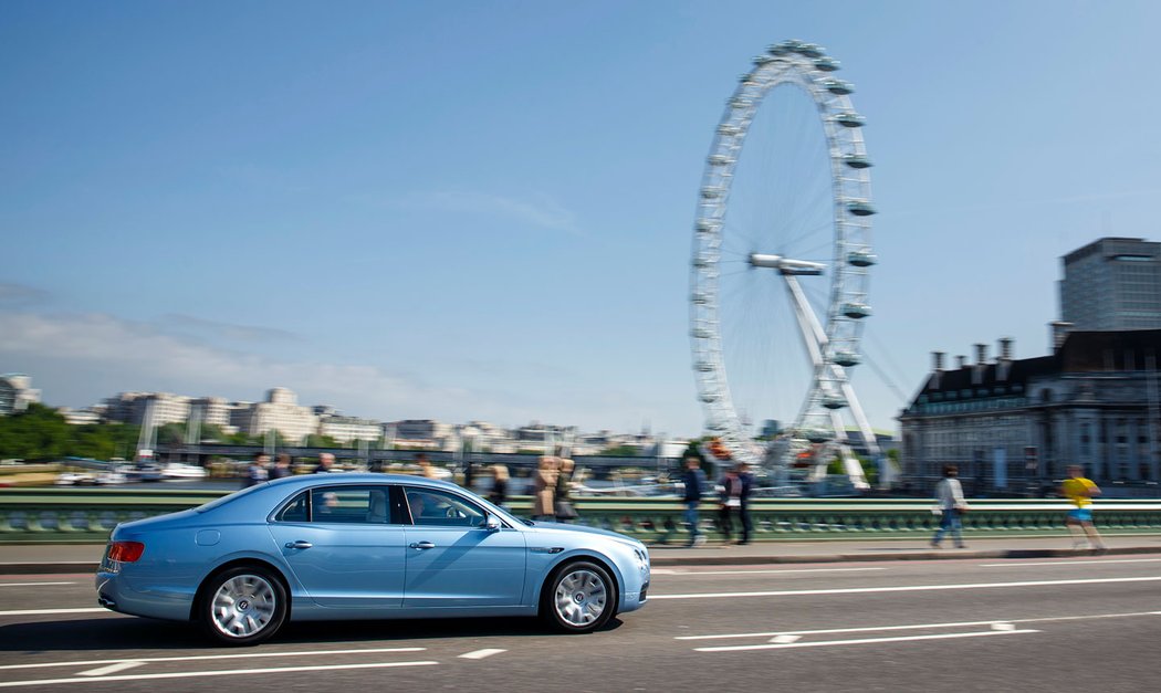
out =
{"type": "Polygon", "coordinates": [[[210,576],[202,585],[197,621],[218,644],[257,645],[287,618],[287,591],[273,571],[239,565],[210,576]]]}

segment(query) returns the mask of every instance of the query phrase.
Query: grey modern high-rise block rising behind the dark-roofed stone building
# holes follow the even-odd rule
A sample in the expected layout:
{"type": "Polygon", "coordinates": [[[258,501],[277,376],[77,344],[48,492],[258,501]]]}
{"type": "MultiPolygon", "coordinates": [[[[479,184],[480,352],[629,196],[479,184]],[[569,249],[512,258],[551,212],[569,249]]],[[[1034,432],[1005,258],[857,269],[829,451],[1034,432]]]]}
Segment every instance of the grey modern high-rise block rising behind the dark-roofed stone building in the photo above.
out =
{"type": "Polygon", "coordinates": [[[1068,329],[1161,329],[1161,243],[1101,238],[1061,261],[1060,317],[1068,329]]]}

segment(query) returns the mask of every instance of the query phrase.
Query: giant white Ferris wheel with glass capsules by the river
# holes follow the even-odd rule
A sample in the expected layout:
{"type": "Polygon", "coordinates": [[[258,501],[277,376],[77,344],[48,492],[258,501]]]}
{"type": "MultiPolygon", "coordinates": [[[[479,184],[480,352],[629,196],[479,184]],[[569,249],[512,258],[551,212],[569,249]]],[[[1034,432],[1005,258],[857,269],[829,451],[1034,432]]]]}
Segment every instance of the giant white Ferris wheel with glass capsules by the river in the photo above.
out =
{"type": "Polygon", "coordinates": [[[879,452],[850,381],[877,262],[871,160],[854,87],[838,68],[800,41],[756,57],[727,102],[699,190],[690,281],[698,396],[706,427],[751,464],[784,463],[785,450],[808,446],[839,446],[850,459],[849,418],[879,452]],[[763,420],[794,445],[771,445],[763,420]]]}

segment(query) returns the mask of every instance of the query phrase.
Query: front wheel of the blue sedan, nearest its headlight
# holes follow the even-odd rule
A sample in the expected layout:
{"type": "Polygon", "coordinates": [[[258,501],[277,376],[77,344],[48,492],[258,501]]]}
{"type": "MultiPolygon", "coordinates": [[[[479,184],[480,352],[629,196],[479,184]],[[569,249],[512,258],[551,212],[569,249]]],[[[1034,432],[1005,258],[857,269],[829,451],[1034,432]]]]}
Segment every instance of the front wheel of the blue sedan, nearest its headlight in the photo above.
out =
{"type": "Polygon", "coordinates": [[[616,613],[616,582],[591,561],[561,565],[540,594],[540,618],[560,633],[592,633],[616,613]]]}

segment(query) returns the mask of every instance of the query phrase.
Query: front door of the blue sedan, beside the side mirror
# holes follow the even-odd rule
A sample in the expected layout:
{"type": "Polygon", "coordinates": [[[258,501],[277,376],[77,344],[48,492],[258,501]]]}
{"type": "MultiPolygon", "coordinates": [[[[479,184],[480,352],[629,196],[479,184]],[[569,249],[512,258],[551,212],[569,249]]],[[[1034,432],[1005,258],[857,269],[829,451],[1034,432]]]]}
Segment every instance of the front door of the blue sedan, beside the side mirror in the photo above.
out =
{"type": "Polygon", "coordinates": [[[512,527],[489,529],[488,512],[442,489],[406,486],[404,607],[521,604],[527,548],[512,527]]]}

